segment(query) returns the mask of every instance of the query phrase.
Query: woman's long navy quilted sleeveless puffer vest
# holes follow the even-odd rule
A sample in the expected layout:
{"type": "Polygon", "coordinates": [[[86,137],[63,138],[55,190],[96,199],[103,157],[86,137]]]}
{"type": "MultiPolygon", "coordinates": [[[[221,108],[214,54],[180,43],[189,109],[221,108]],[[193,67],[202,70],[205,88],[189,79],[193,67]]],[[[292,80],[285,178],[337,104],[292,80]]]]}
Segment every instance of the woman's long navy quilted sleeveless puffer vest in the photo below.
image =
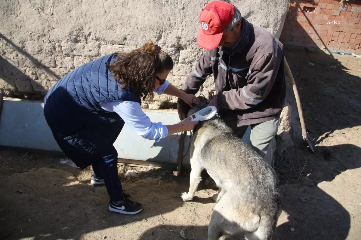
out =
{"type": "Polygon", "coordinates": [[[109,101],[134,101],[139,95],[121,88],[108,66],[116,59],[108,54],[88,62],[60,79],[44,99],[44,116],[68,157],[80,168],[89,166],[112,147],[124,121],[100,107],[109,101]]]}

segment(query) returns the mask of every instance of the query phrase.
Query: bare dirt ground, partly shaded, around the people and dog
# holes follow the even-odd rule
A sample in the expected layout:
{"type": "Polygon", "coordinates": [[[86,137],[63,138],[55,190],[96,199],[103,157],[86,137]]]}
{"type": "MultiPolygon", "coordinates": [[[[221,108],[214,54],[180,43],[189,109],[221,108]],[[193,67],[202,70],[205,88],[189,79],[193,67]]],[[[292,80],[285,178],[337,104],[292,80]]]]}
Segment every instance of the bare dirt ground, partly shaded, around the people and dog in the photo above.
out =
{"type": "MultiPolygon", "coordinates": [[[[361,239],[361,59],[304,48],[285,54],[316,154],[292,125],[293,146],[275,153],[283,212],[274,239],[361,239]]],[[[60,160],[0,149],[0,239],[181,240],[184,228],[188,239],[207,239],[215,191],[200,185],[183,203],[186,172],[134,168],[139,177],[125,177],[119,166],[123,188],[145,205],[125,216],[108,211],[105,187],[90,185],[91,169],[60,160]]]]}

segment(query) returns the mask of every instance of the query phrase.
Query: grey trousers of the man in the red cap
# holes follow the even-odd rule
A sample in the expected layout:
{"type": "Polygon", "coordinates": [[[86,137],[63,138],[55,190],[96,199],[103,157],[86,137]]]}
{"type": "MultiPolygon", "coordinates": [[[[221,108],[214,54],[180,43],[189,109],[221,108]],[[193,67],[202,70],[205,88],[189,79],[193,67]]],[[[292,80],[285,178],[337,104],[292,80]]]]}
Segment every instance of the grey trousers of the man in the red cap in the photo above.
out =
{"type": "MultiPolygon", "coordinates": [[[[227,117],[225,117],[224,120],[226,124],[232,128],[237,137],[243,137],[244,133],[247,131],[248,125],[238,127],[234,121],[229,121],[227,117]]],[[[274,137],[277,134],[278,122],[279,118],[250,125],[251,137],[249,140],[251,142],[251,147],[256,150],[256,152],[260,154],[272,168],[274,168],[273,153],[276,148],[276,140],[274,137]]]]}

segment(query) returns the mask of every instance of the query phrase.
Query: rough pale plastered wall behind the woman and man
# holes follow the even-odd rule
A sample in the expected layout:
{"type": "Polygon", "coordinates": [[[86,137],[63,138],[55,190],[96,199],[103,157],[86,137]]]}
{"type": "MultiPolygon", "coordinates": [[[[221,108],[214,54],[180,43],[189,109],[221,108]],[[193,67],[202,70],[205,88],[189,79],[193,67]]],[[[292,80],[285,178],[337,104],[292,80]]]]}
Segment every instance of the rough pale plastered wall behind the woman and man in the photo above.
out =
{"type": "MultiPolygon", "coordinates": [[[[0,89],[44,95],[58,79],[101,55],[156,41],[174,60],[169,80],[181,86],[203,50],[196,44],[202,0],[0,1],[0,89]]],[[[250,22],[279,38],[289,0],[234,0],[250,22]]],[[[203,94],[213,89],[204,84],[203,94]]],[[[206,95],[206,96],[207,96],[206,95]]],[[[159,108],[175,98],[157,97],[159,108]]]]}

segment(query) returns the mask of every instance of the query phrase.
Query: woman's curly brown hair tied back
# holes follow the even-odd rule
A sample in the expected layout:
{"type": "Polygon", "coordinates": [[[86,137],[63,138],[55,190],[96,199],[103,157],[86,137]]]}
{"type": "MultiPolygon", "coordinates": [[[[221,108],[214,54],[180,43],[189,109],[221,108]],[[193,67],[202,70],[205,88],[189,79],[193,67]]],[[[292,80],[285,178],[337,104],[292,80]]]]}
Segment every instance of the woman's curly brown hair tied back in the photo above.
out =
{"type": "Polygon", "coordinates": [[[129,53],[114,53],[116,61],[109,66],[114,79],[122,88],[130,88],[143,100],[154,97],[156,74],[173,69],[173,60],[152,41],[129,53]]]}

